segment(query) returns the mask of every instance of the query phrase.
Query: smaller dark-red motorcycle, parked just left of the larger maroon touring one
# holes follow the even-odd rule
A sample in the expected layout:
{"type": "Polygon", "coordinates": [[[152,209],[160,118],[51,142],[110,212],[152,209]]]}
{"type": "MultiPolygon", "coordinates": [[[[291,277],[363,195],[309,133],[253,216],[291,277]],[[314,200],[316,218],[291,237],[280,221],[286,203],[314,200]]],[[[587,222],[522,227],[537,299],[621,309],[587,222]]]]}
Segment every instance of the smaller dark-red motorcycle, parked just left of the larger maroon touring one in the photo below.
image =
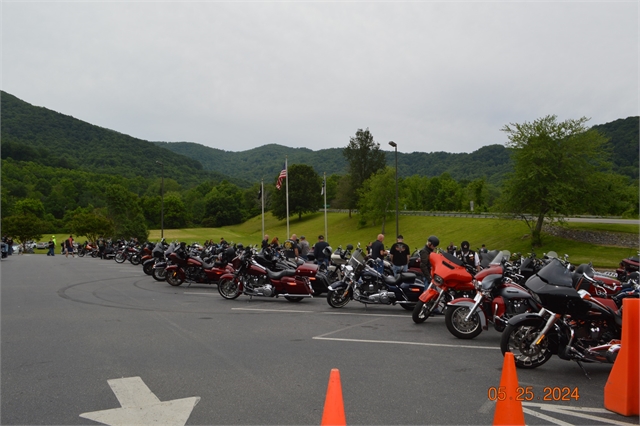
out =
{"type": "Polygon", "coordinates": [[[233,261],[230,263],[228,257],[223,256],[220,261],[211,262],[212,259],[207,261],[197,256],[191,256],[182,243],[180,248],[169,255],[171,264],[165,268],[165,278],[174,287],[182,285],[184,282],[187,282],[189,286],[191,284],[217,284],[225,274],[232,273],[234,270],[233,261]]]}

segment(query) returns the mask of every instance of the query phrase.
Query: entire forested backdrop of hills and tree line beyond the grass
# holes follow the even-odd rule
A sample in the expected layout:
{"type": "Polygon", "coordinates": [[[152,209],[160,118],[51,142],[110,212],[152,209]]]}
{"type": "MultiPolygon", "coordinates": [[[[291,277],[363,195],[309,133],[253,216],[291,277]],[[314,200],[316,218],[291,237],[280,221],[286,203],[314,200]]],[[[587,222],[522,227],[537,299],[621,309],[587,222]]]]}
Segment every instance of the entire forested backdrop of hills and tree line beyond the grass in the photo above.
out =
{"type": "MultiPolygon", "coordinates": [[[[162,224],[183,228],[241,223],[260,214],[261,180],[265,209],[276,211],[284,205],[275,181],[285,156],[291,212],[301,215],[320,208],[322,189],[332,208],[357,209],[365,222],[367,211],[380,217],[390,214],[388,201],[395,195],[393,151],[383,151],[391,167],[377,166],[361,187],[355,187],[343,148],[313,151],[271,144],[231,152],[189,142],[148,142],[5,92],[1,101],[2,226],[3,232],[11,229],[16,236],[18,229],[84,233],[82,226],[93,223],[94,230],[100,224],[100,233],[106,235],[146,238],[149,228],[162,224]],[[158,162],[164,164],[164,175],[158,162]],[[323,173],[326,188],[321,188],[323,173]],[[382,204],[374,209],[375,202],[382,204]]],[[[595,127],[609,138],[614,172],[626,176],[610,182],[624,181],[614,186],[631,191],[636,200],[619,197],[619,205],[608,206],[607,214],[633,214],[638,117],[595,127]]],[[[345,147],[352,136],[345,135],[345,147]]],[[[474,211],[491,211],[511,168],[510,151],[502,145],[463,154],[398,153],[399,205],[420,211],[469,211],[473,205],[474,211]]],[[[595,211],[587,206],[578,213],[595,211]]]]}

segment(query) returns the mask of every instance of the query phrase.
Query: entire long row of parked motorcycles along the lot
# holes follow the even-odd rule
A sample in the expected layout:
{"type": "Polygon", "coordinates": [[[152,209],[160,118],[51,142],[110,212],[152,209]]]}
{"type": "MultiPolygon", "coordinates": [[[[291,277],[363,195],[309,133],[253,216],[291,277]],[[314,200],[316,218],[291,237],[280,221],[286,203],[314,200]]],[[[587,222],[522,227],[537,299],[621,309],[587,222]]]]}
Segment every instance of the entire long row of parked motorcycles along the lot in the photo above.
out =
{"type": "Polygon", "coordinates": [[[623,300],[640,294],[638,257],[624,259],[614,277],[590,264],[575,267],[567,255],[554,252],[538,258],[493,250],[482,254],[476,270],[436,251],[429,257],[431,282],[424,283],[417,253],[409,271],[396,277],[388,262],[368,259],[359,245],[329,247],[326,255],[328,265],[286,259],[272,248],[164,241],[142,247],[122,242],[113,252],[117,262],[142,264],[145,273],[172,286],[216,284],[225,299],[246,295],[299,302],[326,293],[333,308],[350,301],[399,305],[417,324],[444,314],[447,329],[460,339],[473,339],[492,326],[502,333],[502,352],[512,352],[520,368],[539,367],[553,355],[581,367],[614,362],[623,300]]]}

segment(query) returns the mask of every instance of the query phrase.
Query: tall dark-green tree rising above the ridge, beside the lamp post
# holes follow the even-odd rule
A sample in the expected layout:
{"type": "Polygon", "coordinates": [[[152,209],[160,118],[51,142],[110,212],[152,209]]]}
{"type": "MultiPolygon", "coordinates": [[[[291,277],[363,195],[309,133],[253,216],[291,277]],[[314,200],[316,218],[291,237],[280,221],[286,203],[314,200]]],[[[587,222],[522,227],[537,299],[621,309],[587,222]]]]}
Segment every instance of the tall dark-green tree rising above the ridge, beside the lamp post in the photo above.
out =
{"type": "Polygon", "coordinates": [[[358,205],[359,190],[364,181],[378,170],[385,168],[386,155],[380,150],[380,144],[373,140],[373,135],[368,128],[358,129],[356,135],[349,139],[349,145],[342,150],[342,154],[349,163],[349,175],[351,175],[348,205],[349,214],[351,214],[351,210],[358,205]]]}

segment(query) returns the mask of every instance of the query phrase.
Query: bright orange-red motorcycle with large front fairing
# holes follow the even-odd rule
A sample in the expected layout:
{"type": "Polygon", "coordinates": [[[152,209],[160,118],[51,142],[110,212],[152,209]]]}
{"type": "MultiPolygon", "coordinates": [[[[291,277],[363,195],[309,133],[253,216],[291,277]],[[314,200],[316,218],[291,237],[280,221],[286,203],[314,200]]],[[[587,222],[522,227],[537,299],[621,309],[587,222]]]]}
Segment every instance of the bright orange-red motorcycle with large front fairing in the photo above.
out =
{"type": "Polygon", "coordinates": [[[413,309],[411,318],[416,324],[425,322],[436,307],[442,309],[457,297],[476,293],[473,285],[475,270],[472,266],[446,252],[431,253],[429,261],[432,280],[413,309]]]}

